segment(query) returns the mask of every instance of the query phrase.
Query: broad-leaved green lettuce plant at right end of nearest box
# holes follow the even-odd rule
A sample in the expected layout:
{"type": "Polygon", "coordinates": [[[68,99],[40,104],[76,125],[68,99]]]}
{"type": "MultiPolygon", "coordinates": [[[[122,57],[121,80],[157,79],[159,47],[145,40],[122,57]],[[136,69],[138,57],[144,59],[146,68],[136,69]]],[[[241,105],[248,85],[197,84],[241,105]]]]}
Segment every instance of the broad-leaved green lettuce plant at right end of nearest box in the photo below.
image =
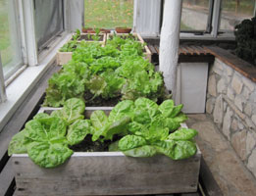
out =
{"type": "Polygon", "coordinates": [[[110,150],[121,150],[131,157],[164,154],[173,160],[181,160],[193,156],[196,153],[193,138],[197,131],[179,128],[187,119],[181,109],[182,105],[175,106],[173,100],[166,100],[160,106],[146,98],[119,103],[113,112],[119,117],[130,117],[131,122],[128,123],[128,134],[113,143],[110,150]]]}

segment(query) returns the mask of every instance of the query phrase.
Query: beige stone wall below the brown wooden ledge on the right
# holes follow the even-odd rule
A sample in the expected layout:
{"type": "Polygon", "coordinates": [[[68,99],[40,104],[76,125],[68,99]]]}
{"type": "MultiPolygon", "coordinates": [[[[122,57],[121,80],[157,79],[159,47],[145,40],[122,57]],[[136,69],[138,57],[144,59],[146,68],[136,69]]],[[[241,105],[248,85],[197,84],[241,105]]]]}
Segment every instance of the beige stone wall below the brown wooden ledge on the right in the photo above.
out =
{"type": "Polygon", "coordinates": [[[206,112],[256,177],[256,83],[216,58],[206,101],[206,112]]]}

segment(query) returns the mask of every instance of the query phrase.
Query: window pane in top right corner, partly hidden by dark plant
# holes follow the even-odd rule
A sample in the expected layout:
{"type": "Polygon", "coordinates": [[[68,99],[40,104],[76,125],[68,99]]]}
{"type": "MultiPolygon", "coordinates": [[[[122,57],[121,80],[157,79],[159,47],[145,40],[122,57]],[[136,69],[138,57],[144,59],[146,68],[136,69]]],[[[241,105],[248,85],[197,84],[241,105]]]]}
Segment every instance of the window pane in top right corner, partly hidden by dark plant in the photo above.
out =
{"type": "Polygon", "coordinates": [[[253,18],[255,0],[223,0],[222,30],[233,30],[244,19],[253,18]]]}

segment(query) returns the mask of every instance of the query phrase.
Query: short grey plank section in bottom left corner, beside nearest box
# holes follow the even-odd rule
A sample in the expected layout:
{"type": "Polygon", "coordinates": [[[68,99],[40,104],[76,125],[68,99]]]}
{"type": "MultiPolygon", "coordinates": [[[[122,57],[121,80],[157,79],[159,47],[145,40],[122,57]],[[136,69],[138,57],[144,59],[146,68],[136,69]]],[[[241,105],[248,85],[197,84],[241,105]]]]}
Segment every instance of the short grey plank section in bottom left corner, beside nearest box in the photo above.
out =
{"type": "Polygon", "coordinates": [[[12,168],[12,160],[9,159],[3,171],[0,172],[0,195],[6,194],[14,176],[15,172],[12,168]]]}

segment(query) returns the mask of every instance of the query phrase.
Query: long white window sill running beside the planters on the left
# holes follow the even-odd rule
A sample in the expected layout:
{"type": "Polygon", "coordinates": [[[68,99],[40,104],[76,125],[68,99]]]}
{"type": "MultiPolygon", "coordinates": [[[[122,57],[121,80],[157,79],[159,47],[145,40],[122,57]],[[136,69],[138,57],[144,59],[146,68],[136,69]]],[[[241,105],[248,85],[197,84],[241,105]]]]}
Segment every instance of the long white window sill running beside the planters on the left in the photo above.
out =
{"type": "Polygon", "coordinates": [[[27,67],[15,80],[6,88],[7,101],[0,104],[0,132],[4,125],[15,114],[16,110],[23,103],[26,96],[45,73],[56,61],[56,53],[71,37],[70,34],[63,37],[54,49],[42,60],[38,66],[27,67]]]}

